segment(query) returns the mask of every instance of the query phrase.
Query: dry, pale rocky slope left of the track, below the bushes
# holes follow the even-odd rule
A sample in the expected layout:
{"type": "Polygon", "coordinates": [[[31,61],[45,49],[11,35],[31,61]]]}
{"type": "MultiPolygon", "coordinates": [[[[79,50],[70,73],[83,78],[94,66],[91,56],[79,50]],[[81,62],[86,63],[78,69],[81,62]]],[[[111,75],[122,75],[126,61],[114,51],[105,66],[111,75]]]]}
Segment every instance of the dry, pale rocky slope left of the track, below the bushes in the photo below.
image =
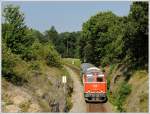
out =
{"type": "Polygon", "coordinates": [[[49,67],[46,71],[41,76],[33,76],[28,84],[22,86],[3,79],[2,112],[64,112],[65,97],[68,97],[68,88],[72,88],[71,81],[66,84],[64,94],[61,82],[64,71],[49,67]]]}

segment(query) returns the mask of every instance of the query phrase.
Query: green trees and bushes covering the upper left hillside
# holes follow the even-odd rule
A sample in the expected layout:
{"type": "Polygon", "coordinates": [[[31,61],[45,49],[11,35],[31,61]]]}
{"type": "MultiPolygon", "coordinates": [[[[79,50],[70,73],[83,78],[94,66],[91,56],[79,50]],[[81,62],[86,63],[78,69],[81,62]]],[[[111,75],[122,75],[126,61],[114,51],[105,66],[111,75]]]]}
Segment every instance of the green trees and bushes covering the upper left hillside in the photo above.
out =
{"type": "Polygon", "coordinates": [[[19,7],[8,5],[3,10],[2,24],[2,75],[13,84],[28,82],[35,72],[40,72],[37,61],[60,67],[61,58],[51,42],[37,30],[24,24],[24,14],[19,7]],[[32,68],[31,68],[32,67],[32,68]]]}

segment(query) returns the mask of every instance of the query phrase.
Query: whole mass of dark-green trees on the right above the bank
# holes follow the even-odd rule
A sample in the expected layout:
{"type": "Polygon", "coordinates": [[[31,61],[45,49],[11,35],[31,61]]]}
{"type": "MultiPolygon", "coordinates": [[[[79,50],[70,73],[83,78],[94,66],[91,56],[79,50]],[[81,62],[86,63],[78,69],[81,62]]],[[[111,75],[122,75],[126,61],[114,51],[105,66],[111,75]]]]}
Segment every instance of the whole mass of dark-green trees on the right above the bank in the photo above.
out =
{"type": "Polygon", "coordinates": [[[128,16],[99,12],[82,27],[82,61],[97,66],[124,62],[148,65],[148,2],[133,2],[128,16]]]}

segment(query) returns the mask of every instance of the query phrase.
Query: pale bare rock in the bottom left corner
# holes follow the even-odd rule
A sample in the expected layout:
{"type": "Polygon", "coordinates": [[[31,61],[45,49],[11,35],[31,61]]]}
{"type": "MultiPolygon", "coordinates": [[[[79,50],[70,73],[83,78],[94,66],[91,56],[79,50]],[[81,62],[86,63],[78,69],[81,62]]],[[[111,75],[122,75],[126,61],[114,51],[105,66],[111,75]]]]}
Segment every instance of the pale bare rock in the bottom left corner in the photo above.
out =
{"type": "Polygon", "coordinates": [[[28,90],[23,87],[15,86],[9,82],[7,88],[2,90],[2,112],[40,112],[39,104],[27,92],[28,90]]]}

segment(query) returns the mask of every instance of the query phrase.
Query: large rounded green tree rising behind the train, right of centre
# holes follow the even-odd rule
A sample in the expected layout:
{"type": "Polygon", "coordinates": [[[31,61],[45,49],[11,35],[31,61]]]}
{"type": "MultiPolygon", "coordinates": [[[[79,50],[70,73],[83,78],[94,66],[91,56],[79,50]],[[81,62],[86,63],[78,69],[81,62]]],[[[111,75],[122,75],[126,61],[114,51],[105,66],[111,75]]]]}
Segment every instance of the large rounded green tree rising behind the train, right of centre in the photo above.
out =
{"type": "Polygon", "coordinates": [[[123,46],[122,25],[122,18],[112,12],[100,12],[92,16],[82,27],[82,38],[80,39],[82,60],[85,58],[87,62],[99,66],[101,63],[112,63],[115,58],[119,59],[118,56],[122,54],[123,46]],[[114,45],[119,43],[122,45],[114,45]],[[90,52],[88,56],[85,55],[86,52],[90,52]]]}

